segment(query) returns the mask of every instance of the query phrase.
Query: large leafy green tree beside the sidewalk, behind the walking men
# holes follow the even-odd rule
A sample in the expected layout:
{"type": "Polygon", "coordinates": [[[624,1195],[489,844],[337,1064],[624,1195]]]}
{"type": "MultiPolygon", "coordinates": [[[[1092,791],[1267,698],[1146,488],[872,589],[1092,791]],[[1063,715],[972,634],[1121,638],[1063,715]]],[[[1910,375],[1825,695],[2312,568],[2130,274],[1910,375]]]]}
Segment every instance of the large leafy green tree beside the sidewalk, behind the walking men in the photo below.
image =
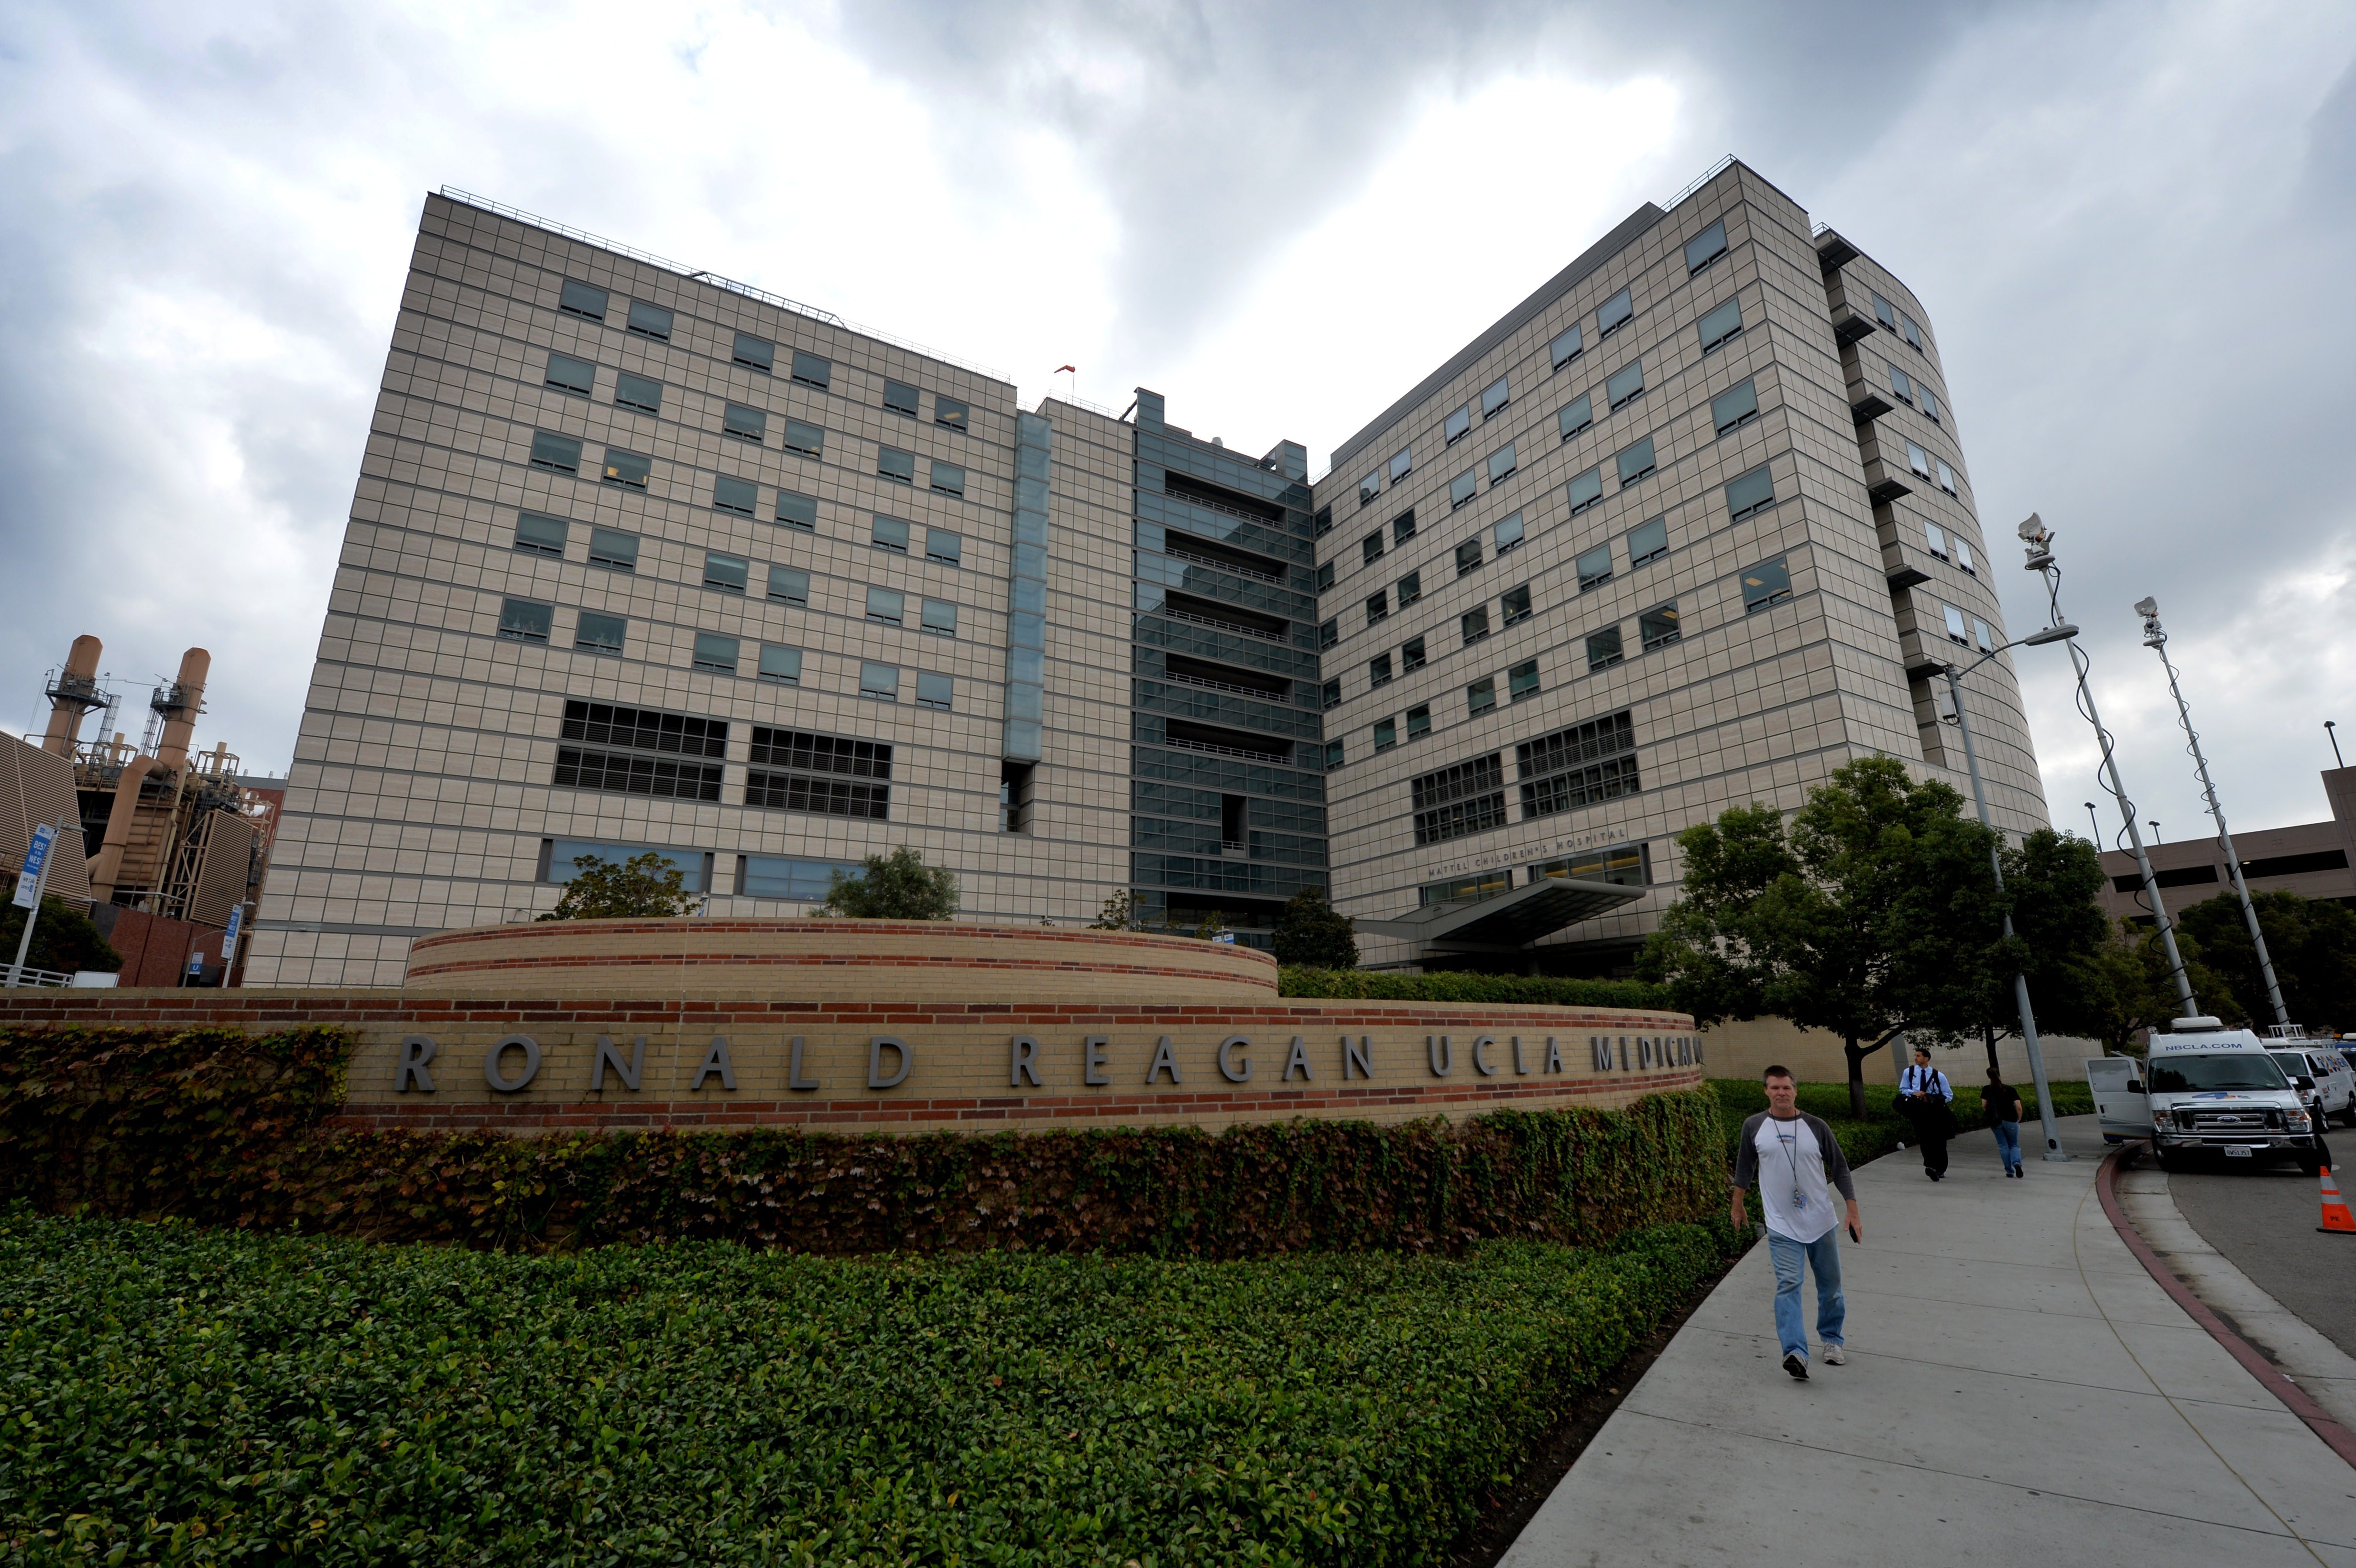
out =
{"type": "Polygon", "coordinates": [[[1953,1043],[2012,1012],[2026,944],[2003,935],[1993,845],[1946,784],[1854,760],[1788,831],[1748,805],[1680,833],[1685,897],[1640,972],[1701,1024],[1779,1015],[1840,1036],[1849,1109],[1866,1116],[1866,1057],[1901,1031],[1953,1043]]]}

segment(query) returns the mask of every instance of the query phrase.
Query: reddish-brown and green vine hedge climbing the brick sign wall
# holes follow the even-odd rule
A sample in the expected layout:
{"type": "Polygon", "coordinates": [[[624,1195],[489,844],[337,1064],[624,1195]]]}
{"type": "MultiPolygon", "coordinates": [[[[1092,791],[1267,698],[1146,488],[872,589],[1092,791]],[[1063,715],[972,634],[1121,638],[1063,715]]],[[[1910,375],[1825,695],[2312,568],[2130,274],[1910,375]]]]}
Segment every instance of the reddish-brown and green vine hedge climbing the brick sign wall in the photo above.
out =
{"type": "Polygon", "coordinates": [[[0,1036],[0,1198],[52,1212],[542,1250],[796,1253],[1597,1243],[1725,1201],[1708,1090],[1626,1111],[1223,1132],[337,1132],[332,1029],[0,1036]]]}

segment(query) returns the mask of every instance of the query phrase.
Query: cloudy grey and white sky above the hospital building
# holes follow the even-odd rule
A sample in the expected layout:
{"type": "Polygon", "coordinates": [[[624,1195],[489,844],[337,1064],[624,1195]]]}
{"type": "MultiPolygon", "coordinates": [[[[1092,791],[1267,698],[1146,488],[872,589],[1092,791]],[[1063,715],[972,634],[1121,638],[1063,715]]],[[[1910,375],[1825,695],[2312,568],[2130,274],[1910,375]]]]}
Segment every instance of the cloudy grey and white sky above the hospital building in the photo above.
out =
{"type": "MultiPolygon", "coordinates": [[[[134,702],[203,643],[200,742],[285,770],[443,184],[1322,471],[1732,151],[1930,306],[2010,619],[2036,509],[2139,815],[2201,810],[2156,593],[2236,826],[2309,822],[2356,732],[2351,61],[2356,7],[2259,0],[12,0],[0,723],[78,631],[134,702]]],[[[2066,659],[2021,669],[2085,829],[2066,659]]]]}

